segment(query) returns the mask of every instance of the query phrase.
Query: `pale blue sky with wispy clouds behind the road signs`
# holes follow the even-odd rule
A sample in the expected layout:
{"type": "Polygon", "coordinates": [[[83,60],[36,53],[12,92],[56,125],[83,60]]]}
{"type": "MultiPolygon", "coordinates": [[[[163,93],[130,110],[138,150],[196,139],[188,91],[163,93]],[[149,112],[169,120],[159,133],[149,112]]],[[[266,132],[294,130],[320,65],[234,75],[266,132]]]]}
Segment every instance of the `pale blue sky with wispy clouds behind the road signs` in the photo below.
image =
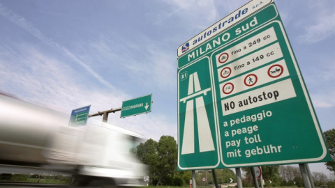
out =
{"type": "MultiPolygon", "coordinates": [[[[112,113],[109,123],[177,139],[177,47],[247,2],[0,0],[0,90],[68,114],[152,93],[151,113],[112,113]]],[[[330,130],[335,1],[275,2],[322,131],[330,130]]]]}

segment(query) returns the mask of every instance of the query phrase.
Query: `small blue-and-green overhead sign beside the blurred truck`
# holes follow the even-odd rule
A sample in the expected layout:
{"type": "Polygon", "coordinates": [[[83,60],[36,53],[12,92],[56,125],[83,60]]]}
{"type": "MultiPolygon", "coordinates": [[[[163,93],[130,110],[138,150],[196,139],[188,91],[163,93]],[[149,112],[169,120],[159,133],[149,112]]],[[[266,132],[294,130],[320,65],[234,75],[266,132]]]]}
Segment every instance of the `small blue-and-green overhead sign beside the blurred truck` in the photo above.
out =
{"type": "Polygon", "coordinates": [[[89,109],[91,105],[87,107],[81,107],[79,109],[74,109],[71,112],[70,126],[80,126],[87,125],[87,119],[89,118],[89,109]]]}

